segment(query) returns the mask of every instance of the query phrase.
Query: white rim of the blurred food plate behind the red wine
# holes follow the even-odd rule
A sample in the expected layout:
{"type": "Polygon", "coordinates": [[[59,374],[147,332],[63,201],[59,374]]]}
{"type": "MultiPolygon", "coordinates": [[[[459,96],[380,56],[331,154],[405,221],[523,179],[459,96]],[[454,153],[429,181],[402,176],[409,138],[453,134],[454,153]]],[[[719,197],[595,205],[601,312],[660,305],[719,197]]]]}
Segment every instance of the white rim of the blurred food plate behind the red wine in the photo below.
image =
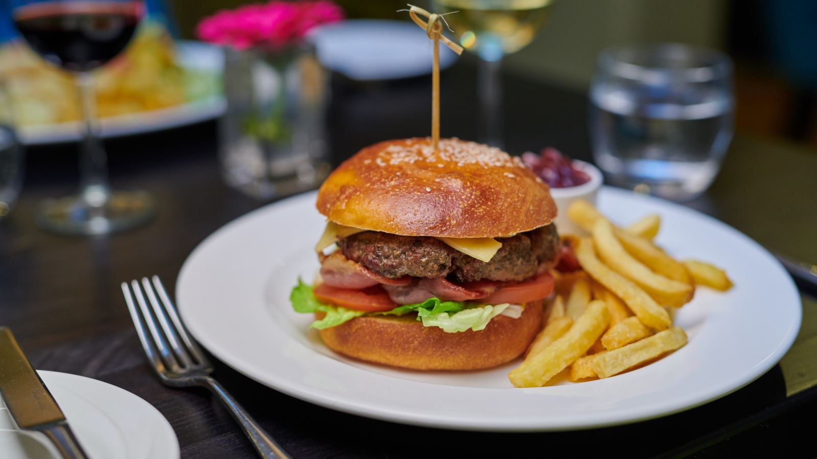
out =
{"type": "MultiPolygon", "coordinates": [[[[176,59],[186,69],[207,70],[217,74],[221,74],[224,69],[221,49],[206,43],[176,42],[176,59]]],[[[225,107],[224,97],[219,95],[166,109],[102,118],[101,136],[131,136],[199,123],[221,116],[225,107]]],[[[55,144],[81,138],[79,122],[23,126],[19,128],[19,134],[25,145],[55,144]]]]}

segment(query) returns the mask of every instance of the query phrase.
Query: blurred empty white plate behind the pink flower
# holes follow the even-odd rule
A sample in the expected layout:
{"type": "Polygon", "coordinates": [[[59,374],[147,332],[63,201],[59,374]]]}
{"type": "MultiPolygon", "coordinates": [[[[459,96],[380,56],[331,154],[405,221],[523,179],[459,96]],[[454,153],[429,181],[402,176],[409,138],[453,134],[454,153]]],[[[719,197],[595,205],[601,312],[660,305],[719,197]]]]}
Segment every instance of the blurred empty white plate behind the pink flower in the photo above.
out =
{"type": "MultiPolygon", "coordinates": [[[[431,40],[405,20],[344,20],[311,33],[318,58],[328,69],[360,81],[417,77],[431,73],[431,40]]],[[[457,54],[440,43],[440,68],[457,54]]]]}

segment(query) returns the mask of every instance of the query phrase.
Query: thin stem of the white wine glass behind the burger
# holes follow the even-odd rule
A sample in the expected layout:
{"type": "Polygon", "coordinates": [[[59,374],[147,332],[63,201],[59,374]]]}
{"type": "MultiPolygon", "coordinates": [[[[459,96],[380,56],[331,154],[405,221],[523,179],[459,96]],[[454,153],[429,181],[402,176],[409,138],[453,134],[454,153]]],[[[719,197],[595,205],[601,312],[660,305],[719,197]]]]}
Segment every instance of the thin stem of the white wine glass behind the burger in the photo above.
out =
{"type": "Polygon", "coordinates": [[[502,83],[499,65],[502,60],[480,59],[477,86],[480,91],[480,140],[504,148],[502,144],[502,83]]]}

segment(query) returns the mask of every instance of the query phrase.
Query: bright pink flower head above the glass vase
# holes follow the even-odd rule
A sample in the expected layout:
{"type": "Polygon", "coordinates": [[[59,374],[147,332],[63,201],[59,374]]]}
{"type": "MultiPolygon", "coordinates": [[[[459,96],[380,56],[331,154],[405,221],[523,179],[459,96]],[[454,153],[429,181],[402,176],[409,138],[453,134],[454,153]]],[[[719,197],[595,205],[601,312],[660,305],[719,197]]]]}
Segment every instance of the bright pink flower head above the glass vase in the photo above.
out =
{"type": "Polygon", "coordinates": [[[196,35],[205,42],[243,50],[279,49],[295,44],[317,25],[343,19],[343,10],[328,0],[256,3],[218,11],[204,18],[196,35]]]}

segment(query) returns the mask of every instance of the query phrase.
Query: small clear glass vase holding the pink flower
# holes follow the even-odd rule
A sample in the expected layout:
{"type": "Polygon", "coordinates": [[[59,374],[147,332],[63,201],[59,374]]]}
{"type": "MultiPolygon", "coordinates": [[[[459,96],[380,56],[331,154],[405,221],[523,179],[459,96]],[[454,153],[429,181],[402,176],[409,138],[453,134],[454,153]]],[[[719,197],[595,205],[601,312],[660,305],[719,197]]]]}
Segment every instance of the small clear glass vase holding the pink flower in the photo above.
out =
{"type": "Polygon", "coordinates": [[[328,78],[315,48],[225,51],[220,123],[227,184],[260,199],[315,188],[328,175],[328,78]]]}

